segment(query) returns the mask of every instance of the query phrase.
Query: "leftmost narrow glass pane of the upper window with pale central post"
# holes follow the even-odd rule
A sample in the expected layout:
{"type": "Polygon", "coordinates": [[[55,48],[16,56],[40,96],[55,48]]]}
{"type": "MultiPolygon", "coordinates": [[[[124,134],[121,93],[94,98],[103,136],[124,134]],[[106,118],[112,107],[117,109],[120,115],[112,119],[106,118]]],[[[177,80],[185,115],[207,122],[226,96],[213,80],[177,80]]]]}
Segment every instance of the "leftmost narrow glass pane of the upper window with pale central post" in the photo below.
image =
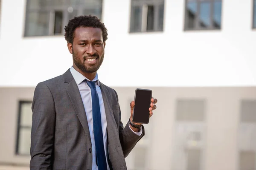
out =
{"type": "Polygon", "coordinates": [[[142,8],[140,6],[131,7],[131,26],[130,32],[140,32],[141,31],[141,17],[142,17],[142,8]]]}

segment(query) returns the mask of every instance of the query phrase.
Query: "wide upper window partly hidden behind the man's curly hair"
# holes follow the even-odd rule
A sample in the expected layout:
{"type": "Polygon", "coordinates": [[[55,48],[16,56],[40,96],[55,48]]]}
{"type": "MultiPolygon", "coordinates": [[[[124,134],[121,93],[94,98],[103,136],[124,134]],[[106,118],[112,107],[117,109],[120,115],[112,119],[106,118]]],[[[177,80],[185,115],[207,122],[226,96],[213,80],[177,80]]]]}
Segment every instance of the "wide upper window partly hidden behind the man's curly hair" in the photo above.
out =
{"type": "Polygon", "coordinates": [[[101,19],[102,0],[27,0],[25,36],[62,35],[70,19],[89,14],[101,19]]]}

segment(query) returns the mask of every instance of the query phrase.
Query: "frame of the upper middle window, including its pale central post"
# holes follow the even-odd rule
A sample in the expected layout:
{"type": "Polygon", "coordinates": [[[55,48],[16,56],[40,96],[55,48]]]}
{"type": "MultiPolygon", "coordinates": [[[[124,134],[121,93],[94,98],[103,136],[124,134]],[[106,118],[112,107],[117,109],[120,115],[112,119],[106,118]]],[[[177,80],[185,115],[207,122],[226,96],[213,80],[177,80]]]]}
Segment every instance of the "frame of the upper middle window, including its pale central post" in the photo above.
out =
{"type": "Polygon", "coordinates": [[[165,11],[163,11],[163,29],[160,30],[158,28],[159,27],[158,24],[160,23],[160,20],[159,20],[160,6],[162,4],[164,6],[163,10],[165,10],[165,0],[140,0],[140,1],[131,0],[129,33],[163,32],[164,31],[165,11]],[[154,28],[153,28],[153,30],[147,30],[148,13],[146,14],[145,11],[146,12],[148,11],[148,6],[154,6],[154,20],[153,20],[154,28]],[[141,8],[140,17],[139,17],[140,30],[134,30],[134,22],[132,22],[132,19],[134,19],[134,7],[141,8]]]}

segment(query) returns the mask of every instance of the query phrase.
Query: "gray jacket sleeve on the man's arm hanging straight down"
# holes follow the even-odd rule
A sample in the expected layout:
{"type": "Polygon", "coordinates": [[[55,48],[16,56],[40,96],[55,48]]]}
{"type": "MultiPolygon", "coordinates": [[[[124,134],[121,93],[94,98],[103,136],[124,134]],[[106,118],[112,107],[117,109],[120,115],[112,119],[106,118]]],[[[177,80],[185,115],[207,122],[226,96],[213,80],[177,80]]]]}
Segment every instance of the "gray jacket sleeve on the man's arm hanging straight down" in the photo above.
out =
{"type": "Polygon", "coordinates": [[[32,102],[30,170],[50,170],[55,133],[55,105],[48,86],[39,83],[32,102]]]}

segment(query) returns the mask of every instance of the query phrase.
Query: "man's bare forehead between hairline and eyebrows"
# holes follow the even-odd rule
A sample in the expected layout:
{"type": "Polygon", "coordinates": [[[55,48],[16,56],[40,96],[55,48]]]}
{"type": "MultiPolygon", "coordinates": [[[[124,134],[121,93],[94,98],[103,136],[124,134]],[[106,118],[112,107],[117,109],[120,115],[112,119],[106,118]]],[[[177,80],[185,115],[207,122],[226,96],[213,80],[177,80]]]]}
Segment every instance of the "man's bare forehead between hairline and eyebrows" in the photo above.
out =
{"type": "Polygon", "coordinates": [[[74,32],[74,41],[75,40],[102,40],[102,30],[100,28],[92,27],[79,27],[76,28],[74,32]]]}

